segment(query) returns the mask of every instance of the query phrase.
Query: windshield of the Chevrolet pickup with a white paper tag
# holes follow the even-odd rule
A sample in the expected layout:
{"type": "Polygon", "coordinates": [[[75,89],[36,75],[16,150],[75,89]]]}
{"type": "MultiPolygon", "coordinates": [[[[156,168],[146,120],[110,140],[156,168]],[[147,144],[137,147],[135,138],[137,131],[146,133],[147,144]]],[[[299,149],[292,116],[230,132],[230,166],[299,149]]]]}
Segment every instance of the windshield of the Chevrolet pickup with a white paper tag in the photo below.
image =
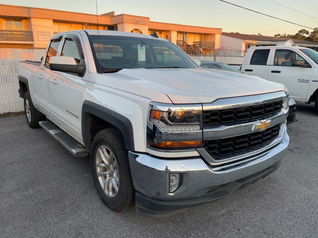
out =
{"type": "Polygon", "coordinates": [[[126,36],[88,36],[97,71],[123,68],[196,68],[182,50],[156,39],[126,36]]]}

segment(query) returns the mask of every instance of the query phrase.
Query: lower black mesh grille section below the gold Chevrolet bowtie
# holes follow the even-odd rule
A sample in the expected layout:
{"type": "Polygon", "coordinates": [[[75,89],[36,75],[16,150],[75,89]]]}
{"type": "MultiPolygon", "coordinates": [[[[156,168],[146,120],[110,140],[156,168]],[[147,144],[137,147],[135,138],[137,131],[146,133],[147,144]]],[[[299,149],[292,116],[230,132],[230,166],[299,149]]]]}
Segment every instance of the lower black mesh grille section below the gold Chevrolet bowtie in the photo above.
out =
{"type": "Polygon", "coordinates": [[[267,128],[264,131],[250,134],[203,141],[203,148],[215,159],[224,160],[239,156],[269,145],[279,135],[280,124],[267,128]]]}

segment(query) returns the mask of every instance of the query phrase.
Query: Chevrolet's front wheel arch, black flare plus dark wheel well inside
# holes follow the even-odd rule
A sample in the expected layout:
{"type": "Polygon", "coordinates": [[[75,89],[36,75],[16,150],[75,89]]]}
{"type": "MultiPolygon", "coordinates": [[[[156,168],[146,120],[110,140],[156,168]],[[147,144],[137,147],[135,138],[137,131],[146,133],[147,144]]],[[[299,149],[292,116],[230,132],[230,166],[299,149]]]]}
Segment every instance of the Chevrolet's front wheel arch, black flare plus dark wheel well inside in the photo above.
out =
{"type": "Polygon", "coordinates": [[[134,151],[134,133],[131,121],[108,108],[85,100],[81,112],[81,130],[83,142],[88,151],[91,150],[95,134],[99,130],[109,127],[118,128],[124,137],[126,149],[134,151]],[[102,123],[102,125],[94,125],[94,122],[102,123]]]}

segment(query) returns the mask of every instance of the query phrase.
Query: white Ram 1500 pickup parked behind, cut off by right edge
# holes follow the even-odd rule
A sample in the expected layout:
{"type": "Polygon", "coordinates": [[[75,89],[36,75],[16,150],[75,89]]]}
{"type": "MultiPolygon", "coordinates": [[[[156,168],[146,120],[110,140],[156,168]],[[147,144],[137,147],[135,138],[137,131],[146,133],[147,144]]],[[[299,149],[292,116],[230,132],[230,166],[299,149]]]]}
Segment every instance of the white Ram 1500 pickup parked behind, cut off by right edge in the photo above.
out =
{"type": "Polygon", "coordinates": [[[240,70],[284,84],[296,102],[315,102],[318,110],[318,52],[292,46],[251,47],[240,70]]]}

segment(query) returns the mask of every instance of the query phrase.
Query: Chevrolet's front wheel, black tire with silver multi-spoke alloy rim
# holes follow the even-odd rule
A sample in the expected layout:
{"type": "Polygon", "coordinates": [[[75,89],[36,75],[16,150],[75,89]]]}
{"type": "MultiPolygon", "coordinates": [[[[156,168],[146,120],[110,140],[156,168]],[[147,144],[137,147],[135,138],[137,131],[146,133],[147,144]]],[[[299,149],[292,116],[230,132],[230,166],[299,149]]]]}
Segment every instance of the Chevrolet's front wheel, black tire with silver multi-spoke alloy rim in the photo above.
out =
{"type": "Polygon", "coordinates": [[[90,153],[92,176],[96,189],[104,204],[114,212],[127,211],[133,205],[135,195],[128,161],[128,150],[120,134],[121,132],[116,128],[99,131],[93,139],[90,153]],[[109,159],[109,162],[106,161],[107,163],[104,160],[106,157],[109,159]],[[107,188],[106,183],[108,184],[107,188]]]}

